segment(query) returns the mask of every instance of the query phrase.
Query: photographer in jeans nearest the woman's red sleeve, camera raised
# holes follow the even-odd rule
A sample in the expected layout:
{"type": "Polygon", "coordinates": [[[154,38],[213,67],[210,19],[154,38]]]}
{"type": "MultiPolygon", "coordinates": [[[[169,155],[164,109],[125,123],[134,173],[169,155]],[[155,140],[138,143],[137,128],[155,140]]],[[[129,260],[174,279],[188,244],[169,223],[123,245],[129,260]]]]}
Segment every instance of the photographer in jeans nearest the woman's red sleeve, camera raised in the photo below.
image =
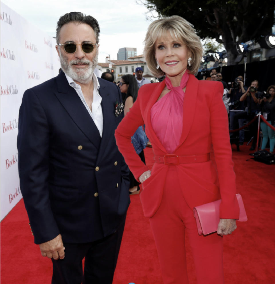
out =
{"type": "MultiPolygon", "coordinates": [[[[243,85],[243,77],[238,76],[235,82],[231,83],[231,88],[228,90],[227,97],[229,101],[229,121],[230,130],[233,130],[233,119],[236,114],[244,112],[244,103],[240,101],[241,96],[246,92],[247,87],[243,85]],[[235,85],[235,86],[234,86],[235,85]]],[[[243,119],[238,119],[239,128],[243,127],[243,119]]],[[[244,142],[244,130],[239,132],[239,144],[243,145],[244,142]]]]}

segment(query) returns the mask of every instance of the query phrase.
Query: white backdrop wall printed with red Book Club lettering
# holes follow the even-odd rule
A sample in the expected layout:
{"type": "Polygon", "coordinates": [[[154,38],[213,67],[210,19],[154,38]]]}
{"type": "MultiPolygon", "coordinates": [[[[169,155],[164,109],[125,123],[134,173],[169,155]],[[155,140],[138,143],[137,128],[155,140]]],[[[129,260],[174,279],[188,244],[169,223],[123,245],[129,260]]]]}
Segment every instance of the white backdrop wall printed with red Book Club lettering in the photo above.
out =
{"type": "MultiPolygon", "coordinates": [[[[17,164],[18,111],[26,89],[58,75],[56,41],[1,2],[1,220],[22,198],[17,164]]],[[[30,125],[31,127],[31,125],[30,125]]]]}

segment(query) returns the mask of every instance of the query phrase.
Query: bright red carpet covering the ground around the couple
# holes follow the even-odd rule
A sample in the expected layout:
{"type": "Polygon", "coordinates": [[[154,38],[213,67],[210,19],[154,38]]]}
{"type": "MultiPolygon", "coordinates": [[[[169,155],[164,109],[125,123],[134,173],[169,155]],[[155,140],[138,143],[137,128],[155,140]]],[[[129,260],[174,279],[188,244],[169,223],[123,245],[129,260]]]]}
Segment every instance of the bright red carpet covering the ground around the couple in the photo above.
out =
{"type": "MultiPolygon", "coordinates": [[[[224,237],[226,284],[275,283],[275,166],[249,159],[249,146],[233,148],[237,192],[241,193],[248,221],[224,237]]],[[[152,148],[145,150],[152,165],[152,148]]],[[[34,245],[28,217],[21,200],[1,222],[1,283],[47,284],[51,261],[34,245]]],[[[192,256],[188,250],[189,284],[195,284],[192,256]]],[[[125,231],[113,284],[161,284],[160,268],[148,219],[138,195],[131,196],[125,231]]],[[[214,283],[213,283],[214,284],[214,283]]]]}

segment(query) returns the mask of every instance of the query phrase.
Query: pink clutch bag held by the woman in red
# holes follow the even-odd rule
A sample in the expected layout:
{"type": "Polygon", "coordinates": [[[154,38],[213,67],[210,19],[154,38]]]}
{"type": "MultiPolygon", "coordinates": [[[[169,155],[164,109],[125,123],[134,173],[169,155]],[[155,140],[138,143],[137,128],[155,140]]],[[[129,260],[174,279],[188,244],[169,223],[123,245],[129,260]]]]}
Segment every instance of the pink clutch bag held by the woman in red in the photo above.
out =
{"type": "MultiPolygon", "coordinates": [[[[237,220],[241,222],[247,221],[241,195],[236,194],[236,197],[240,208],[240,215],[237,220]]],[[[221,199],[194,207],[194,217],[196,219],[199,235],[208,235],[217,231],[220,221],[220,204],[221,199]]]]}

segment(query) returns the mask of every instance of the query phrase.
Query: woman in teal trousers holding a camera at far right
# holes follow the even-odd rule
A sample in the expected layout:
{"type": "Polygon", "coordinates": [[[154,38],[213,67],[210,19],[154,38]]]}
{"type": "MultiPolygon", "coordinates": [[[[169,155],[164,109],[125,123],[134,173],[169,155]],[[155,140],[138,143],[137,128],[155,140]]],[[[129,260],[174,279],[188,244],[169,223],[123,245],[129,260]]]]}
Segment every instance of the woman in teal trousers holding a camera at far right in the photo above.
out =
{"type": "MultiPolygon", "coordinates": [[[[266,96],[263,96],[259,100],[260,109],[262,116],[270,123],[273,127],[275,127],[275,86],[271,85],[268,87],[266,91],[266,96]]],[[[274,130],[271,129],[266,123],[261,121],[261,130],[263,132],[263,141],[262,141],[262,150],[266,148],[266,144],[269,138],[269,146],[270,153],[273,153],[275,138],[274,138],[274,130]]]]}

